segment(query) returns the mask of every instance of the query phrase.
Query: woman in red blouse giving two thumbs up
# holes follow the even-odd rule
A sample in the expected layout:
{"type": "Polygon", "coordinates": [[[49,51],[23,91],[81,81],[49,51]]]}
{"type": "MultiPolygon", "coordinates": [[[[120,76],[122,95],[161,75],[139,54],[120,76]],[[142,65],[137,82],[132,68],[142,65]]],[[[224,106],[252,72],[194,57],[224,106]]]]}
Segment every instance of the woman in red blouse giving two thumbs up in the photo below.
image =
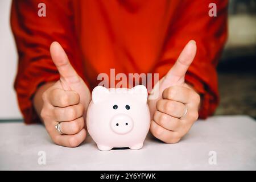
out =
{"type": "Polygon", "coordinates": [[[150,131],[163,142],[178,142],[198,115],[206,118],[218,104],[216,65],[226,40],[228,2],[216,1],[216,17],[208,15],[210,3],[13,1],[15,90],[24,121],[42,121],[56,144],[79,146],[98,74],[109,75],[111,68],[159,73],[159,98],[148,101],[150,131]],[[46,16],[38,16],[42,2],[46,16]]]}

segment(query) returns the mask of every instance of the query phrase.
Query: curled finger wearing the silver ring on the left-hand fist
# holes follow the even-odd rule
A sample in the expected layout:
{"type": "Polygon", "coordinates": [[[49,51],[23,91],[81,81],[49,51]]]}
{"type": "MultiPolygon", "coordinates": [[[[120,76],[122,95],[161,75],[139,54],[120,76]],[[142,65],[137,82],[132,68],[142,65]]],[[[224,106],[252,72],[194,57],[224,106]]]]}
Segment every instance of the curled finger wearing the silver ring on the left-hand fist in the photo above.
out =
{"type": "Polygon", "coordinates": [[[73,121],[61,122],[61,132],[67,135],[79,133],[84,128],[84,117],[77,118],[73,121]]]}

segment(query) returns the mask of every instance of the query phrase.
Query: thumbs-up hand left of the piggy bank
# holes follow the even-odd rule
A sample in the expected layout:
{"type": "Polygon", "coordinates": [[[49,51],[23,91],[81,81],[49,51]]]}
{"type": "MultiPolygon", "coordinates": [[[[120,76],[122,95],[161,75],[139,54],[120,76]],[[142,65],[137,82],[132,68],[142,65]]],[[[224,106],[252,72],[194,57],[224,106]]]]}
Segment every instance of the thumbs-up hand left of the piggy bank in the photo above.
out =
{"type": "Polygon", "coordinates": [[[59,43],[53,42],[50,52],[60,73],[60,80],[43,92],[40,116],[53,142],[76,147],[86,137],[84,118],[90,102],[90,91],[69,63],[59,43]],[[55,129],[59,122],[63,135],[55,129]]]}

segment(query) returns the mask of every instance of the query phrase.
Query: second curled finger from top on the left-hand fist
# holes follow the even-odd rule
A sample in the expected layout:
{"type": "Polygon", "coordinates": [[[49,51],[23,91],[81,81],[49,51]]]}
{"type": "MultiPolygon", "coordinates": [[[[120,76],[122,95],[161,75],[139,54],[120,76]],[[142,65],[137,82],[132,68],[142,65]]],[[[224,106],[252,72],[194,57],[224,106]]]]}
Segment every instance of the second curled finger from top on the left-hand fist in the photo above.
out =
{"type": "Polygon", "coordinates": [[[57,122],[73,121],[84,114],[84,106],[77,104],[68,107],[55,107],[53,113],[57,122]]]}

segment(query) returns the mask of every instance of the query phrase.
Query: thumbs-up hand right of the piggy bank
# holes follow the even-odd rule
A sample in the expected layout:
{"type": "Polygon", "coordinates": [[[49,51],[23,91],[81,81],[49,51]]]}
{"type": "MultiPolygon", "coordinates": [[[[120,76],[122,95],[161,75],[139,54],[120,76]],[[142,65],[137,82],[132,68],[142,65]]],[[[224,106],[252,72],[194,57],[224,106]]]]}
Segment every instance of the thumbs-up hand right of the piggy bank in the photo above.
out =
{"type": "Polygon", "coordinates": [[[200,96],[185,84],[185,73],[195,55],[196,43],[191,40],[167,75],[152,90],[155,92],[159,88],[158,99],[148,100],[150,131],[163,142],[179,142],[198,118],[200,96]]]}

